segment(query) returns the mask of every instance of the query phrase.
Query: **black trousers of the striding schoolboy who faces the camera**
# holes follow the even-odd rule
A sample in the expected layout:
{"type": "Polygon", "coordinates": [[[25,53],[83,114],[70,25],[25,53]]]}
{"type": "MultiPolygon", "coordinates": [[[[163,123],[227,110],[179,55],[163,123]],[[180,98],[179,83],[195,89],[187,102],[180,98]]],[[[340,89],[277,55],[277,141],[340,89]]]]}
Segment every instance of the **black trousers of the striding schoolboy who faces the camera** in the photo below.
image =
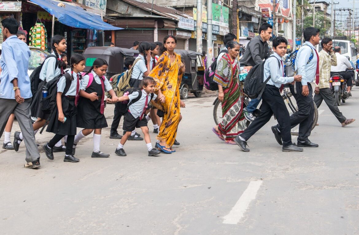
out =
{"type": "Polygon", "coordinates": [[[248,140],[271,119],[273,114],[280,124],[279,130],[282,135],[283,146],[292,145],[289,112],[280,95],[279,88],[272,85],[266,85],[262,94],[261,115],[240,136],[248,140]]]}

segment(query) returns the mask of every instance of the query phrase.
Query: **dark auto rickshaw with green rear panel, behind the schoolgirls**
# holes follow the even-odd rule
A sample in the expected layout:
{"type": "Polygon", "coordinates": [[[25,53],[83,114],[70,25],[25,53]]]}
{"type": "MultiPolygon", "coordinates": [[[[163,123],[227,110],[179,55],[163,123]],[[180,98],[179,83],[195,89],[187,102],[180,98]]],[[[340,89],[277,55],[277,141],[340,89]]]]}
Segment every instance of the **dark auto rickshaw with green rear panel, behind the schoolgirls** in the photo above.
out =
{"type": "Polygon", "coordinates": [[[126,57],[137,57],[138,51],[120,47],[88,47],[83,56],[86,59],[85,70],[88,71],[97,58],[102,58],[108,63],[106,77],[110,79],[113,75],[123,73],[126,68],[123,64],[126,57]]]}

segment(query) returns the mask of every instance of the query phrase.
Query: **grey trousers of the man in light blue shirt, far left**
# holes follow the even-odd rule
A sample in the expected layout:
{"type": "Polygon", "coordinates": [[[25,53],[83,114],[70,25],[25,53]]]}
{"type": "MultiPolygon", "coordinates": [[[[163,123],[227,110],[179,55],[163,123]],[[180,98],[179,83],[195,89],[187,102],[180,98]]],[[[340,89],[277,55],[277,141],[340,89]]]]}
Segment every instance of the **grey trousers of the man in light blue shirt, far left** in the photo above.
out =
{"type": "Polygon", "coordinates": [[[25,102],[19,104],[15,99],[0,98],[0,136],[3,135],[10,114],[14,113],[26,146],[26,162],[33,162],[40,158],[31,122],[30,101],[31,98],[25,99],[25,102]]]}

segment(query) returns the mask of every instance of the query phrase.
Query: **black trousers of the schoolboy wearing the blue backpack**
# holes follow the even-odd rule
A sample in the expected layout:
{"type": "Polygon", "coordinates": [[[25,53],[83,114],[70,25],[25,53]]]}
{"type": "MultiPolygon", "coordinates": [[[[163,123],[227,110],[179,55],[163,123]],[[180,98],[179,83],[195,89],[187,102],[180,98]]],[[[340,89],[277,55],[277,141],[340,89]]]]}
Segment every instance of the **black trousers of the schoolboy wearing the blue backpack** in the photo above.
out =
{"type": "MultiPolygon", "coordinates": [[[[303,96],[302,83],[296,82],[297,94],[294,92],[294,86],[290,85],[290,92],[292,92],[295,101],[297,101],[298,111],[290,116],[291,128],[299,124],[298,141],[306,141],[308,136],[311,135],[312,126],[314,122],[314,101],[313,101],[313,88],[311,83],[308,83],[309,95],[303,96]]],[[[277,125],[280,130],[280,124],[277,125]]]]}

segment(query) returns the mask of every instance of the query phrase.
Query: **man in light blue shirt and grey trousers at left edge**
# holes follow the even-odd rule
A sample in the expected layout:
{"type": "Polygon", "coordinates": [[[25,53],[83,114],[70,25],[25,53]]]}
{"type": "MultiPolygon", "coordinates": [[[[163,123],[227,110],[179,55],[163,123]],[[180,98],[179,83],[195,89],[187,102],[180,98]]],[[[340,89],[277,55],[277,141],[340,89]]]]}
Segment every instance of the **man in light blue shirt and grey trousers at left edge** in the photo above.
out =
{"type": "MultiPolygon", "coordinates": [[[[0,136],[11,113],[15,114],[26,146],[25,168],[40,167],[40,154],[30,117],[31,83],[27,74],[30,50],[16,33],[19,24],[14,18],[1,21],[5,42],[2,45],[0,66],[0,136]]],[[[14,141],[18,141],[15,139],[14,141]]]]}

